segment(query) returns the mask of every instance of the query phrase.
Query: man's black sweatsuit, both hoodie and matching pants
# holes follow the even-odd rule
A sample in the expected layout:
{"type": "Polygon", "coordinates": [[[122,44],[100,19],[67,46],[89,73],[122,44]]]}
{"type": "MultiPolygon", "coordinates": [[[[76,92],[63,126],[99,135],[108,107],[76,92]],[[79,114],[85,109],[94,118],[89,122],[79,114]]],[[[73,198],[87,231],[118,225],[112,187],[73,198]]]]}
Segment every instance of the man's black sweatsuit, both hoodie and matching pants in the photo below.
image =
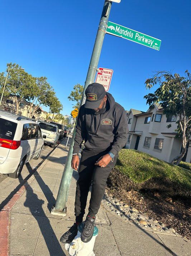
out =
{"type": "Polygon", "coordinates": [[[75,216],[81,222],[85,214],[87,195],[92,185],[89,216],[94,217],[104,196],[106,181],[115,166],[118,152],[126,144],[128,122],[126,111],[115,102],[110,93],[106,93],[105,112],[95,115],[94,111],[81,106],[76,125],[73,153],[78,153],[83,140],[85,149],[81,152],[79,178],[76,188],[75,216]],[[115,157],[105,167],[95,165],[103,155],[112,152],[115,157]]]}

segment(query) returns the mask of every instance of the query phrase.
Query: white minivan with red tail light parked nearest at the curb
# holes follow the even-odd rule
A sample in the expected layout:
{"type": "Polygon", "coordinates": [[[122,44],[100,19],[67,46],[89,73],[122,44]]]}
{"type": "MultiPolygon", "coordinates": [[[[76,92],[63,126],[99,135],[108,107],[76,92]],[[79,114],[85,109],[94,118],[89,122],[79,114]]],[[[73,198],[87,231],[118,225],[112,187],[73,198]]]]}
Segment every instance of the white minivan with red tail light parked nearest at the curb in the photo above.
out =
{"type": "Polygon", "coordinates": [[[38,123],[0,110],[0,173],[18,178],[25,163],[38,159],[43,149],[38,123]]]}

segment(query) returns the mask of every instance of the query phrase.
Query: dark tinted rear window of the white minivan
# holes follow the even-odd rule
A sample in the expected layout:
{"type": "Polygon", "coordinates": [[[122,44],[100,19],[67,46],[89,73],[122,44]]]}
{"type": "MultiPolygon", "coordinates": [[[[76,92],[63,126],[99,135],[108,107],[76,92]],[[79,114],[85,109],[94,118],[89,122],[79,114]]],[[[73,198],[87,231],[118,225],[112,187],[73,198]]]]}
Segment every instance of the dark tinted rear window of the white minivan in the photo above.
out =
{"type": "Polygon", "coordinates": [[[13,140],[17,123],[0,118],[0,138],[13,140]]]}

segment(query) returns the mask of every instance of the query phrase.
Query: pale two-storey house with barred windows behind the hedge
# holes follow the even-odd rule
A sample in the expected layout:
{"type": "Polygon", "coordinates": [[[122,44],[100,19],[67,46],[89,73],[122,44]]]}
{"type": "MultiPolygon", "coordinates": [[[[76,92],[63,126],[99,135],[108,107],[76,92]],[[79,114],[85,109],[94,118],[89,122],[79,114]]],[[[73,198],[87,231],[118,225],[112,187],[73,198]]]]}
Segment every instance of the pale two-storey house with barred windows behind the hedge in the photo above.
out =
{"type": "MultiPolygon", "coordinates": [[[[129,136],[126,148],[143,151],[166,162],[180,154],[182,140],[175,139],[176,117],[167,118],[161,105],[154,104],[154,109],[147,112],[130,109],[127,117],[129,136]],[[171,128],[168,129],[169,124],[171,128]]],[[[183,161],[191,162],[191,140],[183,161]]]]}

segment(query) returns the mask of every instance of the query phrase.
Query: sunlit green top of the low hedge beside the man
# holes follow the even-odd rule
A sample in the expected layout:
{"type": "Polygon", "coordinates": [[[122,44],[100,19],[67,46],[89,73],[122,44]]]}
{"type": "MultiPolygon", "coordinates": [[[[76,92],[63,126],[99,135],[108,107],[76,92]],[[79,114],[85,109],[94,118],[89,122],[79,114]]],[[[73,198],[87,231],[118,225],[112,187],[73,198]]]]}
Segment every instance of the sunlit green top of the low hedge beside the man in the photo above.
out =
{"type": "Polygon", "coordinates": [[[115,169],[135,183],[162,177],[191,189],[191,171],[133,149],[121,149],[115,169]]]}

